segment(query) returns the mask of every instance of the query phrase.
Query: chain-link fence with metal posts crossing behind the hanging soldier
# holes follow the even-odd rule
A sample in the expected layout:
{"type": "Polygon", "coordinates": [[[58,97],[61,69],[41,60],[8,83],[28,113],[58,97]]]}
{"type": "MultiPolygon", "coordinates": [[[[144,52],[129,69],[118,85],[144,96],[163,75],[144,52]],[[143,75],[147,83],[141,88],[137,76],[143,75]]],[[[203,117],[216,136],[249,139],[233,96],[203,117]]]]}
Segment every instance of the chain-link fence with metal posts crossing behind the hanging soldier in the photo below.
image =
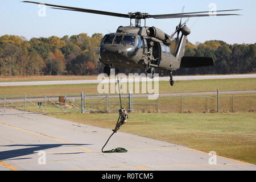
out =
{"type": "MultiPolygon", "coordinates": [[[[255,112],[256,95],[159,96],[122,94],[122,106],[134,113],[236,113],[255,112]]],[[[50,113],[111,113],[120,109],[119,95],[1,97],[0,115],[50,113]]]]}

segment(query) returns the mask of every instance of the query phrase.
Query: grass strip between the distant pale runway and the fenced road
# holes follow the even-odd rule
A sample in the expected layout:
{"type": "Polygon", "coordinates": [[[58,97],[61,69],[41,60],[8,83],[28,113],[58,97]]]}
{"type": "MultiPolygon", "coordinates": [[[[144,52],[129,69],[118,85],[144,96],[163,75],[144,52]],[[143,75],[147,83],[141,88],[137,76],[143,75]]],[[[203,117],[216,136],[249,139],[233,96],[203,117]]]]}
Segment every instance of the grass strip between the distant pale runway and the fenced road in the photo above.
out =
{"type": "MultiPolygon", "coordinates": [[[[64,96],[77,95],[80,92],[86,94],[98,94],[97,84],[79,85],[42,85],[42,86],[3,86],[0,87],[0,97],[23,97],[27,96],[64,96]]],[[[170,86],[168,81],[159,83],[160,93],[184,93],[184,92],[207,92],[220,90],[255,90],[256,78],[226,79],[226,80],[194,80],[177,81],[175,86],[170,86]]]]}

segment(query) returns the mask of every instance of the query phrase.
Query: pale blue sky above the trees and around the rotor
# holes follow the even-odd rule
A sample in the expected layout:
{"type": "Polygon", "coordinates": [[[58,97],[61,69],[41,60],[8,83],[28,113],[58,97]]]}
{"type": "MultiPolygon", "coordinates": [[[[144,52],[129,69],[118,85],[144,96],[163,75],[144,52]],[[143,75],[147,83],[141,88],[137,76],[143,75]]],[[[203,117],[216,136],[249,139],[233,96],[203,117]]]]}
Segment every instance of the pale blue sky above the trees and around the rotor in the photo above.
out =
{"type": "MultiPolygon", "coordinates": [[[[20,0],[21,1],[21,0],[20,0]]],[[[18,35],[27,40],[31,38],[78,35],[86,33],[108,34],[115,32],[119,26],[128,26],[130,20],[113,16],[104,16],[73,11],[54,10],[47,7],[46,16],[40,17],[38,5],[22,3],[16,0],[1,0],[0,36],[18,35]]],[[[56,5],[81,7],[85,9],[112,11],[127,14],[143,12],[149,14],[181,13],[208,11],[214,3],[217,10],[243,9],[236,13],[242,16],[214,16],[190,18],[187,26],[191,28],[189,42],[205,42],[207,40],[223,40],[229,44],[256,43],[256,1],[255,0],[183,0],[183,1],[86,1],[86,0],[36,0],[37,2],[56,5]]],[[[183,19],[184,21],[185,19],[183,19]]],[[[147,26],[155,26],[167,34],[175,31],[180,19],[147,19],[147,26]]],[[[142,22],[142,24],[144,24],[142,22]]]]}

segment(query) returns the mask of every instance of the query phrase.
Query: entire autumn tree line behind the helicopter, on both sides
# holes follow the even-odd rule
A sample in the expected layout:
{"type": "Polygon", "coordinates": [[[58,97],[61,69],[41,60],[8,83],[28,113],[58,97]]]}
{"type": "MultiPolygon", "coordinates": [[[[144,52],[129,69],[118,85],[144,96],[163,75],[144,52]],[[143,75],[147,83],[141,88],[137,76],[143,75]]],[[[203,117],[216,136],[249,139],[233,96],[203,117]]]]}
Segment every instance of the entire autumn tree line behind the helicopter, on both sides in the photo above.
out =
{"type": "MultiPolygon", "coordinates": [[[[0,76],[94,75],[101,73],[98,46],[102,34],[59,38],[0,37],[0,76]]],[[[175,50],[175,43],[171,46],[175,50]]],[[[175,75],[233,74],[256,72],[255,44],[227,44],[219,40],[188,42],[185,56],[213,57],[215,66],[179,69],[175,75]]],[[[129,73],[129,69],[121,69],[129,73]]],[[[134,70],[132,70],[134,72],[134,70]]],[[[143,71],[139,71],[143,72],[143,71]]]]}

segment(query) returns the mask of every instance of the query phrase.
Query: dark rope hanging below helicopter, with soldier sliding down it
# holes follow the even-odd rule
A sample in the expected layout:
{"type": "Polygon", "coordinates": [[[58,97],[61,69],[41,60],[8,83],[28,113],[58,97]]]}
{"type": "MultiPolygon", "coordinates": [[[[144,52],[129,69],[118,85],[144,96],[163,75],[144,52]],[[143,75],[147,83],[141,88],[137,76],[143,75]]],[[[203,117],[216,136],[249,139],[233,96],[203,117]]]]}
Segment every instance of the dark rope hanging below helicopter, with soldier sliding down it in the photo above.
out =
{"type": "Polygon", "coordinates": [[[120,84],[119,84],[119,78],[118,78],[118,73],[117,73],[117,82],[118,82],[118,89],[119,89],[119,99],[120,99],[120,110],[119,110],[119,118],[117,120],[117,124],[115,125],[115,129],[113,130],[113,134],[110,135],[109,139],[101,149],[102,153],[125,153],[127,150],[125,148],[115,148],[113,150],[108,150],[104,151],[104,148],[106,147],[106,144],[108,144],[110,138],[113,137],[115,133],[120,129],[122,125],[126,123],[126,120],[128,118],[127,111],[122,107],[122,98],[121,98],[121,92],[120,92],[120,84]]]}

